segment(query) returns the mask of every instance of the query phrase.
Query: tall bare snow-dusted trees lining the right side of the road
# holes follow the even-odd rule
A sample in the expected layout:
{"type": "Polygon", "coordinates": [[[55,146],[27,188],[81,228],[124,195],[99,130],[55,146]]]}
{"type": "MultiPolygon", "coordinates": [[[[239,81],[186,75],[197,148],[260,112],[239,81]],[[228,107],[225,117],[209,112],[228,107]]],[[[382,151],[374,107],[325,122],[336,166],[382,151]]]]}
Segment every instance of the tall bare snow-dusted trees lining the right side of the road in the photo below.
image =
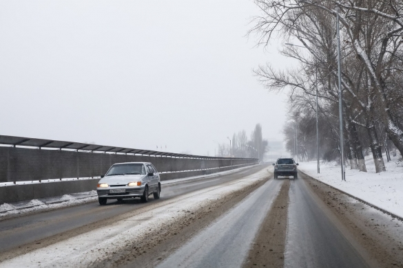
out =
{"type": "Polygon", "coordinates": [[[295,154],[298,149],[300,159],[316,158],[318,91],[320,157],[340,158],[338,12],[345,157],[351,168],[366,171],[364,154],[372,153],[376,172],[381,172],[382,152],[387,160],[391,148],[403,155],[403,1],[255,2],[262,14],[250,33],[258,34],[263,45],[282,36],[281,53],[299,62],[287,71],[270,63],[255,70],[267,89],[288,89],[293,121],[284,129],[287,150],[295,154]]]}

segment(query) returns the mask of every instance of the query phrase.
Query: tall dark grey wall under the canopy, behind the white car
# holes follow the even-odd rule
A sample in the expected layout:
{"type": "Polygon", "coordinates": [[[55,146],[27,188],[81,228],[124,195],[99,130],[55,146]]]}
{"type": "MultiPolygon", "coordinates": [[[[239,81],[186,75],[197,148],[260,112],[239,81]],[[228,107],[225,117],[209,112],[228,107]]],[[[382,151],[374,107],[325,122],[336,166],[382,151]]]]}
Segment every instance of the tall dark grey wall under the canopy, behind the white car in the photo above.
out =
{"type": "Polygon", "coordinates": [[[191,159],[0,147],[0,182],[99,177],[112,164],[131,161],[151,162],[158,172],[257,163],[257,159],[191,159]]]}

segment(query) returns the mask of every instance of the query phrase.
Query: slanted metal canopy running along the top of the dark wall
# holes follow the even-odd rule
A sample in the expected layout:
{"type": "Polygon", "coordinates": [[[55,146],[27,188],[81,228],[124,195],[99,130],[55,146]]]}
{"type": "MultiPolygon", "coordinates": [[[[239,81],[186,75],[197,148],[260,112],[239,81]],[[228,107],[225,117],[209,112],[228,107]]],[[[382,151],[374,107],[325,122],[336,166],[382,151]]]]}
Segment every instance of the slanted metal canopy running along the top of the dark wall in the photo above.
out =
{"type": "Polygon", "coordinates": [[[85,144],[81,142],[64,142],[53,139],[36,139],[32,137],[16,137],[16,136],[6,136],[0,135],[0,144],[10,145],[13,147],[17,146],[28,146],[36,148],[56,148],[59,150],[79,150],[83,151],[98,151],[103,153],[124,153],[124,154],[134,154],[134,155],[154,155],[160,157],[178,157],[178,158],[194,158],[194,159],[254,159],[254,158],[240,158],[240,157],[210,157],[202,155],[187,155],[181,153],[167,153],[158,150],[142,150],[134,148],[124,148],[117,146],[105,146],[100,144],[85,144]]]}

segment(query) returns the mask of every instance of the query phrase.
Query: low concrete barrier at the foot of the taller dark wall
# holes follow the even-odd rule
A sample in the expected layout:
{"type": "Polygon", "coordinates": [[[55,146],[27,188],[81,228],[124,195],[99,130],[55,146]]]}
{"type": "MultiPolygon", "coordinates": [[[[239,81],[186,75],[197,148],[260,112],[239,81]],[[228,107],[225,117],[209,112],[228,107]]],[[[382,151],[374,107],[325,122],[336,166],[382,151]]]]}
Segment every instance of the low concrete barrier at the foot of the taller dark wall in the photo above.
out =
{"type": "MultiPolygon", "coordinates": [[[[249,165],[250,164],[246,164],[242,166],[249,165]]],[[[161,180],[165,181],[169,179],[180,179],[185,177],[208,175],[214,172],[240,168],[242,166],[229,166],[213,170],[163,173],[161,174],[161,180]]],[[[91,190],[96,190],[96,183],[98,183],[98,181],[99,179],[80,179],[76,181],[29,183],[24,185],[4,186],[0,187],[0,205],[3,203],[13,203],[46,197],[59,197],[63,194],[72,194],[75,192],[88,192],[91,190]]]]}

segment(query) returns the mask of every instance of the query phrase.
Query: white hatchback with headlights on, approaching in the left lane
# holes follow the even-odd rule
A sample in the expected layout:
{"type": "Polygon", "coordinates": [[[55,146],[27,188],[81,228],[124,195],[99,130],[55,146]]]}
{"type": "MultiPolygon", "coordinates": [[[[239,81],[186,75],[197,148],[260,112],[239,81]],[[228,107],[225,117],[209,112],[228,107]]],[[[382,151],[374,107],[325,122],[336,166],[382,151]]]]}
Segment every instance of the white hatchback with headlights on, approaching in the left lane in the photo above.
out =
{"type": "Polygon", "coordinates": [[[154,194],[154,199],[160,198],[160,175],[151,163],[114,164],[101,178],[96,187],[100,205],[105,205],[107,199],[122,201],[140,197],[141,201],[147,202],[150,194],[154,194]]]}

